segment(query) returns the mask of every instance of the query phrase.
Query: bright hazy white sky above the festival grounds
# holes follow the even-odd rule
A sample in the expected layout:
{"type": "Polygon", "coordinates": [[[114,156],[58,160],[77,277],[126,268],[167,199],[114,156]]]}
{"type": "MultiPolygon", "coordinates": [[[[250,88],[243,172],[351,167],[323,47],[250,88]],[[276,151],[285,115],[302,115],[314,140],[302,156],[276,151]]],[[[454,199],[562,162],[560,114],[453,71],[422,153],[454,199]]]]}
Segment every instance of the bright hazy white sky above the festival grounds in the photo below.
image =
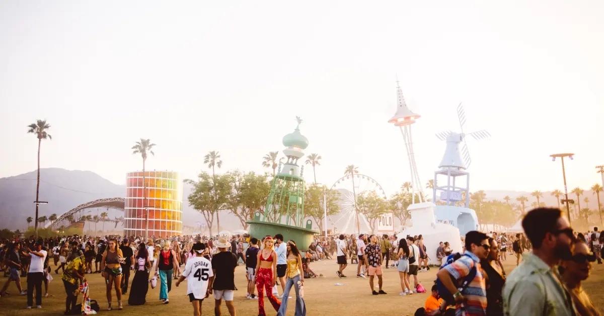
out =
{"type": "MultiPolygon", "coordinates": [[[[396,76],[410,108],[422,182],[434,175],[463,102],[471,190],[600,182],[604,164],[604,2],[2,1],[0,177],[36,168],[36,118],[51,124],[42,167],[116,183],[141,168],[262,172],[295,116],[320,153],[319,182],[355,164],[390,195],[409,180],[387,123],[396,76]]],[[[305,173],[312,181],[312,172],[305,173]]]]}

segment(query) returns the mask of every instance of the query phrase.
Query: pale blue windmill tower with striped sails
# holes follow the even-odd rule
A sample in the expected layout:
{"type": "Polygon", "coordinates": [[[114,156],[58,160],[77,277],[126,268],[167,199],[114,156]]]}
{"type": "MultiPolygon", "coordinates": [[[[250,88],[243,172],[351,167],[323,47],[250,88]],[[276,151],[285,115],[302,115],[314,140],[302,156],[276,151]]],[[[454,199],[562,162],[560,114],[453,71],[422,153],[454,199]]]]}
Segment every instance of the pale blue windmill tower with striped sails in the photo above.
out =
{"type": "Polygon", "coordinates": [[[466,138],[471,136],[475,140],[481,140],[490,137],[490,134],[484,130],[464,134],[466,114],[461,103],[457,106],[457,117],[460,124],[459,133],[446,131],[436,134],[440,140],[446,140],[446,149],[443,160],[440,161],[439,170],[434,172],[432,201],[437,201],[439,198],[440,201],[445,201],[446,205],[455,205],[456,202],[463,201],[467,208],[470,202],[470,173],[466,169],[472,163],[472,159],[467,149],[466,138]],[[439,182],[439,178],[443,178],[443,176],[446,179],[446,185],[442,184],[444,181],[439,182]],[[461,181],[458,178],[461,178],[461,181]]]}

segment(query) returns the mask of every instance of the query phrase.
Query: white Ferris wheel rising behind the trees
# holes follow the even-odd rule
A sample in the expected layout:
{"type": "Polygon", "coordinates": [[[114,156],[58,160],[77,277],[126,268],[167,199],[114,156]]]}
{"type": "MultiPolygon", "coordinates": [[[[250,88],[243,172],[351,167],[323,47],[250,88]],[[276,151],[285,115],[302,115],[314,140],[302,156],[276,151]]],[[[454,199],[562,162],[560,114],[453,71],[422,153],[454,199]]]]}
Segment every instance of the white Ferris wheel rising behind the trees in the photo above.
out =
{"type": "Polygon", "coordinates": [[[356,204],[359,196],[370,192],[385,199],[386,193],[382,189],[382,185],[368,175],[355,173],[342,176],[333,183],[330,189],[340,193],[338,201],[340,213],[328,216],[335,230],[341,233],[359,233],[370,230],[365,216],[357,213],[356,204]]]}

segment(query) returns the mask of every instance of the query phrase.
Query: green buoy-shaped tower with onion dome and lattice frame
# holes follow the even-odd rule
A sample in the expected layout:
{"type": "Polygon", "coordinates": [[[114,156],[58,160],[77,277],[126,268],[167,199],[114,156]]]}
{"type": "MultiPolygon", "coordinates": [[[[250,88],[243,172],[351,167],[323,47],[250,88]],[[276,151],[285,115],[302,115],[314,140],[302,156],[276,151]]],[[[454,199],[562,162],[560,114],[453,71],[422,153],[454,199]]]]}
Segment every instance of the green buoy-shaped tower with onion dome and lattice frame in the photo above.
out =
{"type": "Polygon", "coordinates": [[[312,221],[304,220],[304,191],[306,190],[303,173],[304,166],[298,166],[298,160],[304,156],[302,150],[308,147],[308,140],[300,134],[302,120],[296,117],[298,125],[294,132],[283,137],[283,153],[287,161],[279,164],[279,170],[272,179],[271,191],[263,213],[255,212],[254,219],[248,221],[249,234],[262,237],[277,233],[297,243],[300,250],[308,249],[312,243],[312,221]]]}

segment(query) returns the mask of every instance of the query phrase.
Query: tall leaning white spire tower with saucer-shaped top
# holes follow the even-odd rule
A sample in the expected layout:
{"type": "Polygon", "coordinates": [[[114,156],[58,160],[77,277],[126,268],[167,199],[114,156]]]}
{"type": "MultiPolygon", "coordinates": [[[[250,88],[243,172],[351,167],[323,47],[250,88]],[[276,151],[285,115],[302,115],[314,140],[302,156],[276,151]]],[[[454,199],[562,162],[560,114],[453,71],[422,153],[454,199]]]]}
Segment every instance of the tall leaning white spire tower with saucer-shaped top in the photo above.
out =
{"type": "Polygon", "coordinates": [[[400,132],[403,134],[403,139],[405,140],[405,147],[409,160],[409,169],[411,171],[412,201],[415,203],[415,195],[417,193],[419,196],[419,202],[423,202],[422,181],[420,181],[419,174],[417,173],[415,155],[413,152],[413,140],[411,139],[411,124],[415,123],[417,118],[420,118],[420,115],[411,112],[411,110],[407,108],[405,97],[403,97],[403,92],[400,89],[399,80],[396,80],[396,97],[396,113],[394,113],[394,116],[388,120],[388,123],[393,123],[394,126],[398,126],[400,128],[400,132]]]}

